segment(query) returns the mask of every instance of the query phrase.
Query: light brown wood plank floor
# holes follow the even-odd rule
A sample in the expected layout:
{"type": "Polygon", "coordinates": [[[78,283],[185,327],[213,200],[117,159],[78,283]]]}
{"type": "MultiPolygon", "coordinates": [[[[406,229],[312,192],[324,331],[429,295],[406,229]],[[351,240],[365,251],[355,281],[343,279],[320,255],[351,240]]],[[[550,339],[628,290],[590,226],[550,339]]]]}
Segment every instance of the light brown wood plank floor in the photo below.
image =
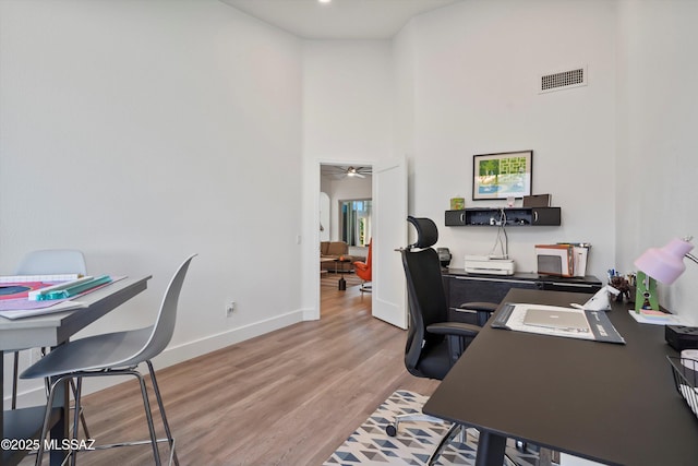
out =
{"type": "MultiPolygon", "coordinates": [[[[345,276],[339,291],[337,275],[322,275],[320,321],[158,371],[180,464],[321,465],[395,390],[433,392],[437,382],[405,370],[405,332],[372,318],[371,295],[345,276]]],[[[147,438],[137,383],[84,402],[98,443],[147,438]]],[[[147,445],[120,447],[79,463],[146,465],[153,456],[147,445]]]]}

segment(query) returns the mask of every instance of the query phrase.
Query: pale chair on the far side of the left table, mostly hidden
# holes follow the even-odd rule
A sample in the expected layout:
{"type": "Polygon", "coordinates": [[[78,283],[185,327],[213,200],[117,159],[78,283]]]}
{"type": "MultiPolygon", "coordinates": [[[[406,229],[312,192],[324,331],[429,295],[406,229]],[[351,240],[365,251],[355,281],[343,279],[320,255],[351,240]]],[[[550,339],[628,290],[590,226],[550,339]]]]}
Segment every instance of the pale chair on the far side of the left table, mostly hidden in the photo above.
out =
{"type": "MultiPolygon", "coordinates": [[[[43,249],[38,251],[32,251],[27,253],[20,265],[14,271],[15,275],[62,275],[62,274],[79,274],[86,275],[87,266],[85,265],[85,255],[74,249],[43,249]]],[[[13,377],[12,377],[12,409],[17,407],[17,378],[20,371],[20,350],[26,348],[19,348],[14,351],[13,363],[13,377]]],[[[45,349],[41,348],[41,353],[45,349]]],[[[71,381],[73,393],[75,393],[75,385],[71,381]]],[[[87,432],[87,423],[82,411],[80,418],[83,423],[83,429],[87,432]]]]}

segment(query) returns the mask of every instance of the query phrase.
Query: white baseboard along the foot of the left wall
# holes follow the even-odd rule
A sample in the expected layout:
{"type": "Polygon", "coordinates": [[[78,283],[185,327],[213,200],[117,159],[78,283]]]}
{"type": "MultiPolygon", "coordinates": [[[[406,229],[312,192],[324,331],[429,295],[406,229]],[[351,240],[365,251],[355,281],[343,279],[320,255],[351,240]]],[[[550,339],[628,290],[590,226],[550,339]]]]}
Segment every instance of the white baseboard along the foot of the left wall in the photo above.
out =
{"type": "MultiPolygon", "coordinates": [[[[159,356],[153,359],[153,366],[156,369],[163,369],[202,355],[206,355],[217,349],[234,345],[236,343],[244,342],[246,339],[254,338],[255,336],[264,335],[266,333],[284,328],[286,326],[303,321],[305,313],[306,311],[297,310],[288,312],[286,314],[276,315],[264,321],[255,322],[253,324],[231,328],[226,332],[220,332],[205,338],[195,339],[193,342],[188,342],[176,346],[169,346],[159,356]]],[[[147,372],[147,368],[145,367],[141,368],[141,370],[147,372]]],[[[83,394],[87,395],[89,393],[95,393],[127,380],[128,378],[115,377],[84,379],[83,394]]],[[[9,391],[5,391],[5,393],[9,391]]],[[[37,386],[35,389],[22,391],[17,394],[19,407],[37,406],[41,404],[46,404],[46,394],[44,392],[43,383],[37,383],[37,386]]],[[[9,396],[3,399],[3,405],[4,409],[10,408],[9,396]]]]}

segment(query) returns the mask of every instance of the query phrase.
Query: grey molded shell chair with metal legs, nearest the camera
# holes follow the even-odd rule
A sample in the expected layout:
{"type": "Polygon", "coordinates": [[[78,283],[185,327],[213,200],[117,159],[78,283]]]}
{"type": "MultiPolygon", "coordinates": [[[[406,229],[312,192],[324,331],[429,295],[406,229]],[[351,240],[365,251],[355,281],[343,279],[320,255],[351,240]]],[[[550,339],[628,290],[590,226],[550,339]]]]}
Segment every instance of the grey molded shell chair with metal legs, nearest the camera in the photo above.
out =
{"type": "MultiPolygon", "coordinates": [[[[170,280],[165,292],[165,297],[163,298],[159,313],[153,325],[145,328],[94,335],[86,338],[68,342],[53,349],[46,357],[41,358],[37,363],[29,367],[22,373],[21,377],[23,379],[51,378],[51,385],[47,402],[46,416],[44,418],[44,428],[41,430],[39,451],[36,455],[36,465],[41,464],[45,439],[50,427],[49,420],[51,415],[51,407],[53,405],[56,387],[65,379],[75,379],[77,381],[75,409],[80,409],[83,378],[106,375],[133,375],[139,380],[141,384],[141,394],[143,396],[143,405],[145,408],[145,416],[148,423],[151,440],[141,442],[123,442],[118,444],[104,445],[103,447],[151,443],[153,446],[153,454],[155,456],[155,464],[160,465],[160,455],[158,452],[157,443],[167,441],[170,449],[169,463],[172,463],[173,461],[174,464],[179,465],[177,453],[174,452],[174,439],[170,431],[167,416],[165,415],[163,397],[160,396],[160,390],[155,378],[155,370],[153,369],[151,359],[159,355],[169,344],[172,337],[172,333],[174,331],[174,322],[177,320],[177,306],[179,301],[180,290],[182,288],[182,284],[184,283],[184,276],[186,275],[189,264],[195,255],[196,254],[188,258],[179,266],[177,273],[170,280]],[[137,366],[142,362],[145,362],[148,368],[151,381],[153,383],[153,391],[155,392],[155,397],[160,410],[160,416],[163,417],[163,425],[165,427],[167,439],[158,440],[155,433],[153,414],[151,411],[151,403],[148,401],[145,380],[141,372],[137,370],[137,366]]],[[[76,439],[77,420],[73,419],[73,439],[76,439]]],[[[71,461],[73,463],[75,461],[76,453],[76,451],[72,452],[71,461]]]]}

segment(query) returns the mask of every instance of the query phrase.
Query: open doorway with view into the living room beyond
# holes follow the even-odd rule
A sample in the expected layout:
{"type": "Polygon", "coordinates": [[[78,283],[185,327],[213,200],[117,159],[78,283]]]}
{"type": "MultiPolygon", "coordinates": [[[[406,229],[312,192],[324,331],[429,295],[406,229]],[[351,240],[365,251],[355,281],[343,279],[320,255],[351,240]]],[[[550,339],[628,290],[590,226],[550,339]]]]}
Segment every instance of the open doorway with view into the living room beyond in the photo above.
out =
{"type": "Polygon", "coordinates": [[[320,313],[329,306],[363,303],[371,313],[366,282],[354,262],[366,262],[371,241],[372,168],[321,164],[320,186],[320,313]],[[342,283],[344,282],[344,283],[342,283]]]}

